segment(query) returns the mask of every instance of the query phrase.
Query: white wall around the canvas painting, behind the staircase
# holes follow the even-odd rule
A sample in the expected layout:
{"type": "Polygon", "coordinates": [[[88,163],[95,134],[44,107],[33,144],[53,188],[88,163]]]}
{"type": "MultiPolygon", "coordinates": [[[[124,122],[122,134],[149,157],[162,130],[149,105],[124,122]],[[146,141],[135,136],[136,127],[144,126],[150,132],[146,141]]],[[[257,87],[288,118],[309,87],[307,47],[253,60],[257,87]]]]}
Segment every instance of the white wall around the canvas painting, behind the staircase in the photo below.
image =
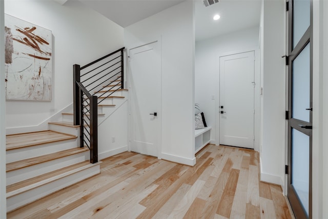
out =
{"type": "Polygon", "coordinates": [[[73,102],[73,64],[86,65],[123,47],[123,28],[79,1],[5,1],[5,13],[47,28],[53,34],[51,102],[6,101],[7,133],[35,131],[73,102]],[[21,131],[22,129],[19,129],[21,131]]]}

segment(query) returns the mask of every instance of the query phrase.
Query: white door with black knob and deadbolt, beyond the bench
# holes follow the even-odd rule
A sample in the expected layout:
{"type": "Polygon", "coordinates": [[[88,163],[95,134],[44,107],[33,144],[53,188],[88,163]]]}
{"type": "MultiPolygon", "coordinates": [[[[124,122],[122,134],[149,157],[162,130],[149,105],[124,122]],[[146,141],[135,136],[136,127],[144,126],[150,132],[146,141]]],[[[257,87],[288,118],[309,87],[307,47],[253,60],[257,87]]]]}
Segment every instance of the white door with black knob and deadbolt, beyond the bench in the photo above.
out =
{"type": "Polygon", "coordinates": [[[254,51],[220,57],[220,144],[254,149],[254,51]]]}

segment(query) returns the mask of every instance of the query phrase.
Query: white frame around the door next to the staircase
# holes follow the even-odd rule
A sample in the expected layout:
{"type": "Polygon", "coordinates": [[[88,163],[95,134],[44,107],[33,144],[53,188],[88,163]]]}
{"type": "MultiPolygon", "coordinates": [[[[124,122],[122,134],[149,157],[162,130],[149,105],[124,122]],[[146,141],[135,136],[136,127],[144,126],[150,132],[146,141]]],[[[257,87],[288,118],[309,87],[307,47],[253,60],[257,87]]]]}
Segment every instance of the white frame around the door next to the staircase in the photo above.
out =
{"type": "MultiPolygon", "coordinates": [[[[133,121],[131,119],[131,112],[132,112],[132,106],[131,106],[131,96],[133,96],[132,89],[131,89],[131,81],[130,81],[130,50],[135,49],[138,47],[146,46],[152,43],[158,43],[160,50],[162,50],[161,45],[161,37],[155,38],[155,39],[147,39],[145,41],[140,41],[139,43],[134,43],[131,46],[126,47],[126,85],[128,86],[128,151],[131,151],[131,140],[132,140],[132,127],[133,127],[133,121]],[[148,43],[145,43],[148,42],[148,43]]],[[[162,57],[160,57],[160,83],[162,82],[162,57]]],[[[161,86],[162,87],[162,86],[161,86]]],[[[160,115],[158,118],[158,140],[157,140],[157,158],[161,159],[161,151],[162,151],[162,90],[160,90],[160,103],[159,103],[159,109],[157,110],[157,113],[160,115]]]]}

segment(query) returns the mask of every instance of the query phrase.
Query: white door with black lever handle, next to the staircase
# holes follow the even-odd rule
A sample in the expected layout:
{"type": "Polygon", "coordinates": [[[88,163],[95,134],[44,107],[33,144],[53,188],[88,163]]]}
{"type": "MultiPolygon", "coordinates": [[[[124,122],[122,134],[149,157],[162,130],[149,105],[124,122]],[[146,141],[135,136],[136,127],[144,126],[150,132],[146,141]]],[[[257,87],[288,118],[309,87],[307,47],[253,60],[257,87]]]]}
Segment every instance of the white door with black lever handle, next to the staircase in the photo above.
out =
{"type": "Polygon", "coordinates": [[[130,49],[131,151],[158,156],[161,69],[158,41],[130,49]]]}

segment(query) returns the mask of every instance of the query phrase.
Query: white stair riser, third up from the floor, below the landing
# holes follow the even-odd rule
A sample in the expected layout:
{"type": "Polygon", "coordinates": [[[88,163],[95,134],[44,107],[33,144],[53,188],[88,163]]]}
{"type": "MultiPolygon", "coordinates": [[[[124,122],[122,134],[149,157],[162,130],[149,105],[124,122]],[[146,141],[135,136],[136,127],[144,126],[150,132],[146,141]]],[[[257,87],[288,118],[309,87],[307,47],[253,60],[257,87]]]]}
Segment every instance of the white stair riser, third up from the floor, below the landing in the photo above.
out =
{"type": "Polygon", "coordinates": [[[6,162],[12,163],[15,161],[25,160],[35,156],[42,156],[49,153],[55,153],[78,146],[77,138],[61,142],[48,143],[43,145],[36,145],[26,148],[19,148],[15,150],[6,151],[6,162]]]}

